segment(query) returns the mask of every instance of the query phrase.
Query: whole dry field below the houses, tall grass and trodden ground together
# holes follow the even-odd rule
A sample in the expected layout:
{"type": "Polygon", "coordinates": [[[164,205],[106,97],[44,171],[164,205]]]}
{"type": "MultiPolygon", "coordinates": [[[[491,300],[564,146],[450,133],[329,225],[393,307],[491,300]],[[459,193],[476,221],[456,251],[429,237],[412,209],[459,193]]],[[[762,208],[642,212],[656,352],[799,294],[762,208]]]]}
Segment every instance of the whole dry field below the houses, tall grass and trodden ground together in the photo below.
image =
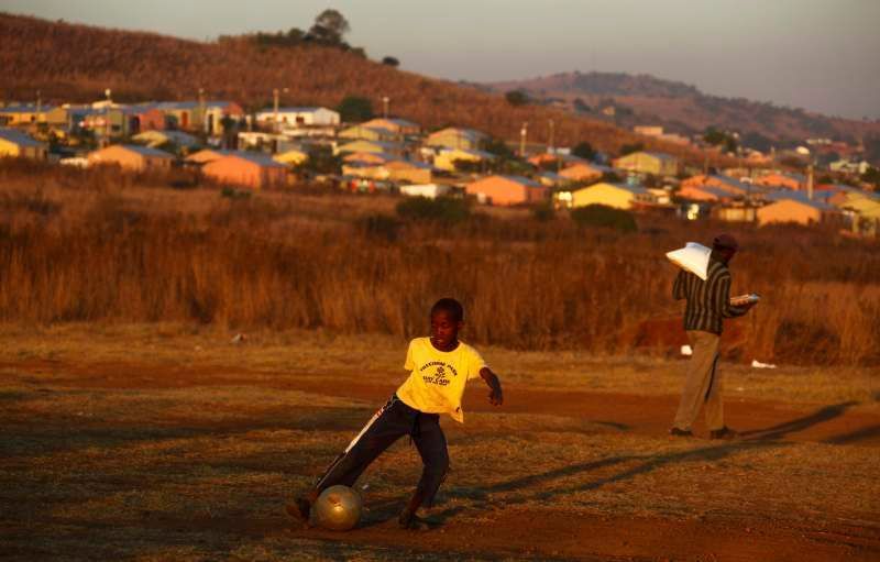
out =
{"type": "Polygon", "coordinates": [[[397,202],[0,166],[0,557],[880,557],[876,244],[736,229],[735,290],[765,296],[725,335],[744,438],[670,441],[684,364],[662,253],[718,224],[488,208],[365,228],[397,202]],[[442,525],[396,528],[420,470],[406,440],[364,475],[358,529],[294,525],[285,502],[403,381],[447,295],[506,404],[474,388],[466,425],[443,421],[442,525]]]}

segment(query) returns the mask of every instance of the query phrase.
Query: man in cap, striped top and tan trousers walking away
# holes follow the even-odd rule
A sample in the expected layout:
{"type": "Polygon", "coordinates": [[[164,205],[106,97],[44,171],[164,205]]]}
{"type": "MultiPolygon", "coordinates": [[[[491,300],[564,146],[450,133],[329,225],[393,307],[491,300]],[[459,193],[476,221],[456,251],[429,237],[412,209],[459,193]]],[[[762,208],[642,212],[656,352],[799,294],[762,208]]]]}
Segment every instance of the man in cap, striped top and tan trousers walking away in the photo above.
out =
{"type": "Polygon", "coordinates": [[[718,373],[718,343],[724,319],[743,316],[754,306],[730,305],[730,272],[727,264],[737,249],[734,236],[721,234],[712,244],[706,280],[684,269],[675,277],[672,296],[675,300],[688,299],[684,330],[693,355],[688,364],[688,378],[679,411],[669,431],[672,436],[691,437],[691,425],[705,404],[710,439],[737,437],[736,431],[724,425],[722,377],[718,373]]]}

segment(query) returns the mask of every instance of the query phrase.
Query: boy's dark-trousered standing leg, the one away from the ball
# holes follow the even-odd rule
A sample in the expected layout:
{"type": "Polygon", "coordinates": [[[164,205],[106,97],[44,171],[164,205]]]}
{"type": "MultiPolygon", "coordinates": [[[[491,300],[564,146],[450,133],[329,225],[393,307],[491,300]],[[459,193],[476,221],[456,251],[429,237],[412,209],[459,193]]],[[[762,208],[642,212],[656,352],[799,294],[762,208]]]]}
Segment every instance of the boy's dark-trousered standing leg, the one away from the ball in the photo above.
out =
{"type": "Polygon", "coordinates": [[[409,505],[400,514],[400,526],[409,527],[419,507],[431,507],[435,496],[449,471],[447,438],[440,428],[440,417],[436,414],[420,414],[418,428],[413,437],[421,456],[424,469],[409,505]]]}

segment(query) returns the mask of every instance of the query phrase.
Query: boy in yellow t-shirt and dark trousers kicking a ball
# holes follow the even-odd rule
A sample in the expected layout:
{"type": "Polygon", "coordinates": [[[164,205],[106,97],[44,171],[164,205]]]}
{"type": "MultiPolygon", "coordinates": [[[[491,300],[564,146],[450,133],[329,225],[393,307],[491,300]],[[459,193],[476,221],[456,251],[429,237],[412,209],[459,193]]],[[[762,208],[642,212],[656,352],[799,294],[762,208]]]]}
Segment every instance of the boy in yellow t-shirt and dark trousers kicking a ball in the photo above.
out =
{"type": "Polygon", "coordinates": [[[337,484],[353,486],[367,466],[404,436],[410,436],[421,456],[424,470],[416,492],[400,511],[404,529],[425,527],[416,515],[431,507],[449,469],[447,439],[440,429],[440,414],[463,423],[461,398],[468,381],[483,378],[491,392],[490,403],[504,401],[498,377],[473,348],[459,341],[464,309],[458,300],[443,298],[431,307],[430,338],[409,342],[404,368],[410,372],[391,400],[383,406],[324,472],[315,487],[287,506],[287,511],[308,520],[311,505],[321,492],[337,484]]]}

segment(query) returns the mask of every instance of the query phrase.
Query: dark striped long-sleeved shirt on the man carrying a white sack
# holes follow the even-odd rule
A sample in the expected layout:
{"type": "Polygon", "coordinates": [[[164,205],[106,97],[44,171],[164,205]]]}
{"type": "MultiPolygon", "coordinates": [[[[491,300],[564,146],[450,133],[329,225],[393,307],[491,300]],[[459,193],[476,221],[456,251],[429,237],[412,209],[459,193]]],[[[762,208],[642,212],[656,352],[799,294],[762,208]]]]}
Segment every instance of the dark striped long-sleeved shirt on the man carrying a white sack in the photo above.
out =
{"type": "Polygon", "coordinates": [[[746,308],[730,305],[730,272],[715,255],[710,258],[706,280],[691,272],[679,272],[672,285],[675,300],[688,299],[684,309],[684,329],[712,332],[721,335],[725,318],[736,318],[746,308]]]}

